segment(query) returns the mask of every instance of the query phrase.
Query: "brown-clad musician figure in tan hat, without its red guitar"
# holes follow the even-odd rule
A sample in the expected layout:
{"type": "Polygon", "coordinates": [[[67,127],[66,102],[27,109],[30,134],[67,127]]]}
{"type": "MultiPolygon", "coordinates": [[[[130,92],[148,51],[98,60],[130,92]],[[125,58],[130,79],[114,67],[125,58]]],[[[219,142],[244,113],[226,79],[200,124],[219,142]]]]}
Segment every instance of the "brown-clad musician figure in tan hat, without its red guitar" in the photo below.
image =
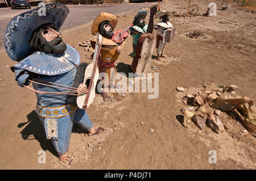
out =
{"type": "MultiPolygon", "coordinates": [[[[106,89],[109,87],[117,87],[112,79],[111,75],[115,74],[115,66],[117,66],[118,56],[125,45],[125,41],[116,42],[113,41],[115,35],[114,28],[117,24],[117,16],[109,14],[107,12],[101,12],[92,24],[92,35],[99,32],[103,37],[103,44],[101,47],[101,56],[98,61],[98,68],[100,73],[106,73],[108,79],[104,79],[104,91],[102,92],[103,100],[110,100],[110,96],[107,94],[106,89]]],[[[129,30],[129,29],[128,29],[129,30]]],[[[129,34],[128,34],[129,35],[129,34]]],[[[126,39],[126,37],[124,38],[126,39]]],[[[96,39],[91,40],[92,47],[94,47],[96,39]]]]}

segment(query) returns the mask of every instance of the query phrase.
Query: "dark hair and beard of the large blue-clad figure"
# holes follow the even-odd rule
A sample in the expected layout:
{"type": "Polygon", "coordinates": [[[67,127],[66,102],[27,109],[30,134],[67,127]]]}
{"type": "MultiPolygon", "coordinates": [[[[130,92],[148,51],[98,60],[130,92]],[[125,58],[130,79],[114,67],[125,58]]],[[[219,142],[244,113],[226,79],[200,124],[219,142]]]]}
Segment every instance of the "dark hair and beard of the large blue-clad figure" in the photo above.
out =
{"type": "Polygon", "coordinates": [[[28,43],[32,48],[37,51],[47,52],[52,54],[61,54],[64,53],[67,49],[67,45],[63,42],[61,37],[56,37],[52,41],[47,41],[43,37],[43,30],[53,29],[57,31],[55,24],[43,24],[42,26],[36,28],[36,30],[30,36],[28,43]]]}

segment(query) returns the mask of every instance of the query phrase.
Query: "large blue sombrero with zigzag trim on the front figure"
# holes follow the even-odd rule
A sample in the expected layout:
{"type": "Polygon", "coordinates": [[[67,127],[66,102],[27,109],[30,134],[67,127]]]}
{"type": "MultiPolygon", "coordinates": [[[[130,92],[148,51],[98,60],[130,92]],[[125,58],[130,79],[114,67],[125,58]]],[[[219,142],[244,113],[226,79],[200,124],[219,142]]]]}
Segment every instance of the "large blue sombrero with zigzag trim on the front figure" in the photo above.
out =
{"type": "Polygon", "coordinates": [[[61,3],[47,4],[46,14],[41,8],[37,7],[19,14],[8,24],[5,33],[5,49],[12,60],[20,61],[29,55],[32,48],[28,40],[36,28],[45,23],[54,23],[60,29],[69,14],[68,7],[61,3]]]}

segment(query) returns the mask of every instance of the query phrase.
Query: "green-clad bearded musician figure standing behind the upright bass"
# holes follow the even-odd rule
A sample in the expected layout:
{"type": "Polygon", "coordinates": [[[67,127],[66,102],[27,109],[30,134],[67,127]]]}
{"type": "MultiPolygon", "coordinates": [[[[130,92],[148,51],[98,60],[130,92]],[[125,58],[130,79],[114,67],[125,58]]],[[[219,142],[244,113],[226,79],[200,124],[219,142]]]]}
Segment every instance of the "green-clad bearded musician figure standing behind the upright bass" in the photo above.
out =
{"type": "Polygon", "coordinates": [[[134,16],[133,27],[130,28],[131,35],[133,36],[133,53],[131,53],[131,57],[134,57],[136,54],[136,46],[139,37],[146,33],[147,24],[145,24],[145,18],[147,16],[147,10],[139,10],[138,14],[134,16]]]}

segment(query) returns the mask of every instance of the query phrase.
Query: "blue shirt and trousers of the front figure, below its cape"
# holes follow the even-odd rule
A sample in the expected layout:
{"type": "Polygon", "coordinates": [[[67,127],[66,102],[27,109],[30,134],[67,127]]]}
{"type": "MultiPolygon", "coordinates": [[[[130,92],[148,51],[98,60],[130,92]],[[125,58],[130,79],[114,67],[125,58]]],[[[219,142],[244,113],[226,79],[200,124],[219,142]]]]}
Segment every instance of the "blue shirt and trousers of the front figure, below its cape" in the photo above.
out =
{"type": "MultiPolygon", "coordinates": [[[[64,74],[47,76],[37,81],[48,81],[60,85],[72,86],[75,81],[76,68],[64,74]]],[[[49,87],[33,83],[34,89],[44,92],[65,91],[56,87],[49,87]]],[[[36,112],[46,131],[46,136],[51,139],[56,151],[60,154],[68,151],[73,122],[78,123],[82,129],[90,131],[93,124],[85,110],[67,103],[67,95],[36,93],[38,105],[36,112]],[[51,136],[50,136],[51,134],[51,136]]]]}

